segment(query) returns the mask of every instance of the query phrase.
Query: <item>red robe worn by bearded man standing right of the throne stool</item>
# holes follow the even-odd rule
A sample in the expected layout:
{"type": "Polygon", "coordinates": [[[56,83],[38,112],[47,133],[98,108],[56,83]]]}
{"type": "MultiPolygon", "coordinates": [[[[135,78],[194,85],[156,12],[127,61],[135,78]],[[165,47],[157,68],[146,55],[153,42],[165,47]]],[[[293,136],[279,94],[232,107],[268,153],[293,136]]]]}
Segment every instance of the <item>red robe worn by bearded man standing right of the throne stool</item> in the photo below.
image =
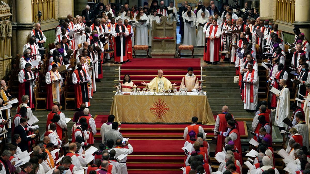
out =
{"type": "MultiPolygon", "coordinates": [[[[219,26],[218,25],[215,25],[215,26],[210,25],[210,33],[209,33],[209,35],[211,35],[213,27],[215,27],[215,29],[214,29],[214,35],[215,35],[219,26]]],[[[211,43],[211,40],[210,40],[210,37],[209,37],[208,38],[208,45],[207,45],[207,48],[206,48],[207,50],[205,51],[205,54],[203,54],[203,60],[209,61],[209,62],[210,62],[210,43],[211,43]]],[[[214,53],[214,56],[213,56],[213,61],[214,62],[218,62],[219,61],[220,44],[221,44],[221,37],[214,38],[214,50],[211,50],[211,52],[214,53]]]]}

